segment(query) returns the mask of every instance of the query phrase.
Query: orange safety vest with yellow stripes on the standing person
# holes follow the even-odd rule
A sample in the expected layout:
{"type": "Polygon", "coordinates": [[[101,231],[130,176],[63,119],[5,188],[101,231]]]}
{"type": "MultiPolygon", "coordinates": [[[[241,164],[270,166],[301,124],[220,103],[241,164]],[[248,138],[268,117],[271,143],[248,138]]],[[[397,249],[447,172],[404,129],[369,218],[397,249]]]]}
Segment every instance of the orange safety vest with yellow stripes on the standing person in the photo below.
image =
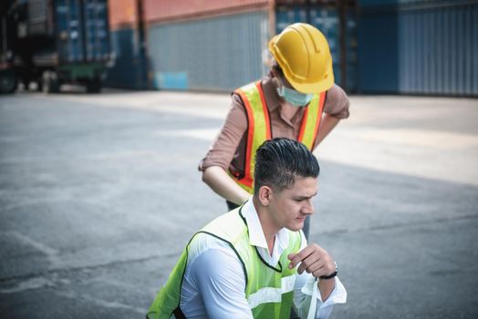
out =
{"type": "MultiPolygon", "coordinates": [[[[243,100],[247,113],[247,142],[245,145],[244,176],[238,172],[229,171],[229,174],[244,190],[254,192],[255,151],[267,139],[272,139],[269,110],[265,104],[261,81],[250,83],[234,91],[243,100]]],[[[326,101],[327,92],[314,94],[310,103],[305,107],[304,117],[297,140],[312,150],[317,139],[318,127],[322,118],[322,110],[326,101]]]]}

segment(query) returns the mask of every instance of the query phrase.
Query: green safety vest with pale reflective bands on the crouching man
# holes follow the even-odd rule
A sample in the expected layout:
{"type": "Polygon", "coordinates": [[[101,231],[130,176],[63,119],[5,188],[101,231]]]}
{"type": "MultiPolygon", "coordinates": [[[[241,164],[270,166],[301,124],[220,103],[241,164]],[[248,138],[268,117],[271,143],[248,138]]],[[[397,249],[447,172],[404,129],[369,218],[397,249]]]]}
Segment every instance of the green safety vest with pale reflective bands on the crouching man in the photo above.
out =
{"type": "Polygon", "coordinates": [[[287,231],[289,244],[282,252],[275,267],[265,263],[255,246],[249,243],[249,232],[241,207],[230,211],[207,224],[197,232],[182,252],[180,260],[172,270],[168,281],[151,304],[149,319],[184,318],[180,309],[182,277],[188,263],[188,249],[192,241],[201,240],[198,233],[205,233],[227,242],[243,264],[245,298],[255,318],[288,319],[292,309],[292,293],[296,280],[296,269],[287,266],[289,253],[298,252],[301,245],[300,232],[287,231]]]}

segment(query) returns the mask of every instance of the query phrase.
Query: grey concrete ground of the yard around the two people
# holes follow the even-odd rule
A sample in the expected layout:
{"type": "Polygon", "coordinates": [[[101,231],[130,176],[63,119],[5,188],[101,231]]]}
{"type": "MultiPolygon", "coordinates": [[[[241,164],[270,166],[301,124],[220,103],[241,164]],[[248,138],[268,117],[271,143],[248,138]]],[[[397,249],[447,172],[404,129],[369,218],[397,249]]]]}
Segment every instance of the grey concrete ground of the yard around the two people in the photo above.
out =
{"type": "MultiPolygon", "coordinates": [[[[144,318],[224,202],[197,171],[228,95],[0,97],[0,317],[144,318]]],[[[478,100],[352,97],[317,149],[335,318],[478,317],[478,100]]]]}

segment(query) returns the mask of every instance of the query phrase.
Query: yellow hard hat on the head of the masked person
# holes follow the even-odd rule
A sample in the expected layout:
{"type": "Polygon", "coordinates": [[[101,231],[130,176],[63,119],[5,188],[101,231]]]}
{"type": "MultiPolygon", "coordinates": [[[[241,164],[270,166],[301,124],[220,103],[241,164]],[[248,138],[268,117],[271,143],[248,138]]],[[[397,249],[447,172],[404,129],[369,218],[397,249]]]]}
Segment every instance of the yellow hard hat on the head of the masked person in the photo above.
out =
{"type": "Polygon", "coordinates": [[[330,48],[316,27],[304,23],[287,26],[269,41],[269,51],[297,91],[319,93],[334,85],[330,48]]]}

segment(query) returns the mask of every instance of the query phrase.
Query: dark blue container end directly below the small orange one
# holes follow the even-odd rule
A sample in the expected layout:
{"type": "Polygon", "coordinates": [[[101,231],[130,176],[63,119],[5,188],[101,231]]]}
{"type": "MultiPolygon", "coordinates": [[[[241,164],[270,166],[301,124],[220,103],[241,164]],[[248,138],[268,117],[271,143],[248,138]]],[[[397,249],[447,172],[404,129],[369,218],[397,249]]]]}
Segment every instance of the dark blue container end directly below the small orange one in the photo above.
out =
{"type": "Polygon", "coordinates": [[[141,55],[138,30],[122,28],[111,31],[115,65],[109,68],[106,87],[147,88],[146,60],[141,55]]]}

